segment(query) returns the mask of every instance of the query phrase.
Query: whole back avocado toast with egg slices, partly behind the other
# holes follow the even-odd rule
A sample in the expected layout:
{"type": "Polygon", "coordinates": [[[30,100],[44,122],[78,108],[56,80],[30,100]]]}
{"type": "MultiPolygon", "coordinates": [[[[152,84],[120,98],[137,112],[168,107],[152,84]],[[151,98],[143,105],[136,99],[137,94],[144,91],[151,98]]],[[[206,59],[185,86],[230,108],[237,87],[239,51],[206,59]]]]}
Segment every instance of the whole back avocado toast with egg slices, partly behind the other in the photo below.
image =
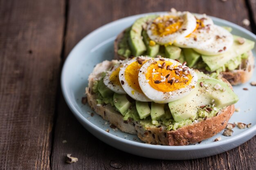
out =
{"type": "Polygon", "coordinates": [[[207,15],[172,10],[136,20],[115,40],[115,59],[148,55],[186,60],[204,73],[224,77],[232,85],[252,77],[254,42],[232,35],[231,28],[213,23],[207,15]]]}

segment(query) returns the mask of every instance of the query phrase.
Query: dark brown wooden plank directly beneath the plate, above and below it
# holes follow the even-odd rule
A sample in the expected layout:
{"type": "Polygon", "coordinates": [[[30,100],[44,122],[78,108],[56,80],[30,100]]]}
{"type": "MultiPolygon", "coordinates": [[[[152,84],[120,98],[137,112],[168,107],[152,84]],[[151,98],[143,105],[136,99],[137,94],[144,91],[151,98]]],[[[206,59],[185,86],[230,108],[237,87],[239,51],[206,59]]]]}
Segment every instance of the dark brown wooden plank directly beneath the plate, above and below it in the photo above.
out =
{"type": "MultiPolygon", "coordinates": [[[[248,18],[248,11],[243,0],[72,0],[69,6],[65,56],[73,46],[94,29],[129,15],[153,11],[168,11],[174,7],[197,13],[207,13],[241,25],[248,18]]],[[[247,27],[247,29],[250,29],[247,27]]],[[[122,165],[122,170],[155,169],[253,169],[256,162],[256,137],[228,152],[187,161],[163,161],[131,155],[112,148],[99,141],[85,130],[67,108],[63,97],[58,103],[54,149],[52,153],[53,169],[114,169],[111,161],[122,165]],[[66,144],[62,141],[67,140],[66,144]],[[72,153],[79,161],[65,163],[65,155],[72,153]]]]}

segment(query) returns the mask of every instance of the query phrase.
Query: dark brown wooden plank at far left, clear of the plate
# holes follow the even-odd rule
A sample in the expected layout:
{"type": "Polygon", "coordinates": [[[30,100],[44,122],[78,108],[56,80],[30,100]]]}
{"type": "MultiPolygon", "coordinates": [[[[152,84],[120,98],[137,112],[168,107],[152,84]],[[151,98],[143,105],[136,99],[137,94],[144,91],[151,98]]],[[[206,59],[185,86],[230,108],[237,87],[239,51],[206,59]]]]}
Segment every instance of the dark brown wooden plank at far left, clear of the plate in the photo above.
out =
{"type": "Polygon", "coordinates": [[[0,169],[49,170],[64,0],[0,1],[0,169]]]}

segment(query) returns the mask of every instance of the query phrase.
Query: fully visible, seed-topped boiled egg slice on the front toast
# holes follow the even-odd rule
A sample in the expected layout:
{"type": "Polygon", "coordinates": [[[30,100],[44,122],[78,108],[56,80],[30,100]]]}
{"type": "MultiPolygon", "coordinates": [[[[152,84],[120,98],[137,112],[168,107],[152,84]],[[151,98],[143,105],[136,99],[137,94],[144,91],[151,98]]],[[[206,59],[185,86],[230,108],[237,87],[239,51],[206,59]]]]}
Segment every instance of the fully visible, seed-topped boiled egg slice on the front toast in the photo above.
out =
{"type": "Polygon", "coordinates": [[[188,95],[198,77],[185,63],[154,58],[140,68],[138,79],[146,97],[155,103],[168,103],[188,95]]]}

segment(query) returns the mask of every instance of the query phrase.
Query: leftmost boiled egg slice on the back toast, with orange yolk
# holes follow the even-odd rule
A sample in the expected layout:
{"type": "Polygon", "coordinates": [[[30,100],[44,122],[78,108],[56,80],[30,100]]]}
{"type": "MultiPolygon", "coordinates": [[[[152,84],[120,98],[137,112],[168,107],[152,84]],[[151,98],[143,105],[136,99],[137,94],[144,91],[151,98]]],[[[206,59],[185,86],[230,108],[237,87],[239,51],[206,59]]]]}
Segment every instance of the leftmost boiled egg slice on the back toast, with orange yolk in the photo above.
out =
{"type": "Polygon", "coordinates": [[[171,44],[193,32],[195,17],[189,12],[175,12],[160,15],[147,26],[147,34],[158,44],[171,44]]]}

